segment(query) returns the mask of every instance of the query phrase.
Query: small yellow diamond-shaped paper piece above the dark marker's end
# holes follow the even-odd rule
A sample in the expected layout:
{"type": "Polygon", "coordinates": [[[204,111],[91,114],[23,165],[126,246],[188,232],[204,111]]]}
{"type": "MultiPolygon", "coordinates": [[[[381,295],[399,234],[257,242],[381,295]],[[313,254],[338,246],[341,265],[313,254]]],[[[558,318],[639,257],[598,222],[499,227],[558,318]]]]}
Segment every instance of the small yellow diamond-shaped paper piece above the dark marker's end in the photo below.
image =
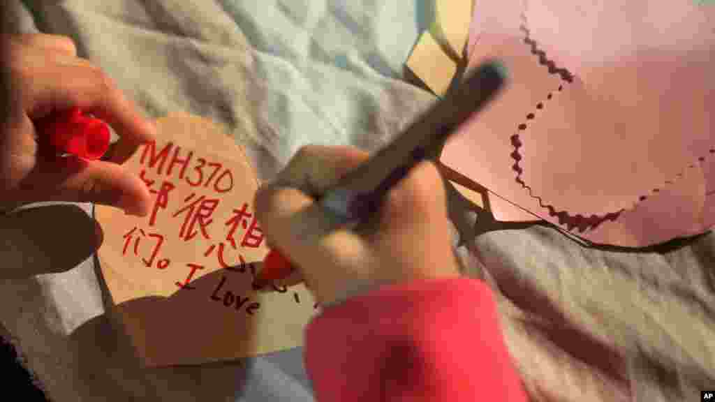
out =
{"type": "Polygon", "coordinates": [[[447,92],[457,72],[457,63],[445,54],[429,31],[420,35],[407,67],[440,97],[447,92]]]}

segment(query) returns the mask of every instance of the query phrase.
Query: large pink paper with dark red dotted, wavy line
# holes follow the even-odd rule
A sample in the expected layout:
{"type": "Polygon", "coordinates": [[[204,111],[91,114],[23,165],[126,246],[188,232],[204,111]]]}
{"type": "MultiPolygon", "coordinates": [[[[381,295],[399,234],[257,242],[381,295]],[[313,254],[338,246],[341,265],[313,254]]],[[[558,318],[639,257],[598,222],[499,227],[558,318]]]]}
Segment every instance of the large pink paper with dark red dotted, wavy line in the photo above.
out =
{"type": "Polygon", "coordinates": [[[488,188],[498,220],[534,214],[631,247],[707,230],[715,224],[715,81],[706,77],[715,71],[714,9],[478,2],[470,66],[503,59],[511,87],[460,128],[441,162],[488,188]]]}

